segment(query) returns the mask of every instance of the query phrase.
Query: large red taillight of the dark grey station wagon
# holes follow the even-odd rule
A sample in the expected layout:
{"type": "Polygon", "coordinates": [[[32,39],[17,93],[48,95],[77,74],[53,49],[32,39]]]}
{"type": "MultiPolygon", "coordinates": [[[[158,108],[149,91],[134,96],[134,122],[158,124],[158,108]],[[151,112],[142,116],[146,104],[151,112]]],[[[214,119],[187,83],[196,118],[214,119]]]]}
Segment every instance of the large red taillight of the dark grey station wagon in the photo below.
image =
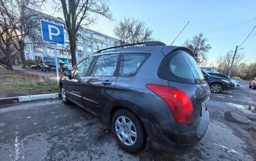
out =
{"type": "Polygon", "coordinates": [[[193,105],[188,94],[172,86],[158,84],[147,84],[146,86],[168,104],[176,122],[194,122],[193,105]]]}

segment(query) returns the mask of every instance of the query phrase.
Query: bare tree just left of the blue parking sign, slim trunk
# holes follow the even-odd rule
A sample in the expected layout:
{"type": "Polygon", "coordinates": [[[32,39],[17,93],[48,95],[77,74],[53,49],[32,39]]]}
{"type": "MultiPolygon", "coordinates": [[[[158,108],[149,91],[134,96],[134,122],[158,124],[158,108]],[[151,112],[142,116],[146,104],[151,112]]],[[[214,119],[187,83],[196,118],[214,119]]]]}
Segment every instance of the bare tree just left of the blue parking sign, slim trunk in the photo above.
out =
{"type": "MultiPolygon", "coordinates": [[[[26,67],[24,49],[26,46],[26,38],[33,39],[34,42],[39,42],[40,32],[39,19],[36,19],[36,14],[31,8],[40,8],[45,0],[0,0],[0,21],[1,24],[8,26],[8,31],[5,35],[9,37],[13,47],[20,53],[22,67],[26,67]]],[[[1,28],[4,26],[0,26],[1,28]]],[[[0,30],[1,30],[0,28],[0,30]]],[[[6,37],[6,38],[7,38],[6,37]]]]}

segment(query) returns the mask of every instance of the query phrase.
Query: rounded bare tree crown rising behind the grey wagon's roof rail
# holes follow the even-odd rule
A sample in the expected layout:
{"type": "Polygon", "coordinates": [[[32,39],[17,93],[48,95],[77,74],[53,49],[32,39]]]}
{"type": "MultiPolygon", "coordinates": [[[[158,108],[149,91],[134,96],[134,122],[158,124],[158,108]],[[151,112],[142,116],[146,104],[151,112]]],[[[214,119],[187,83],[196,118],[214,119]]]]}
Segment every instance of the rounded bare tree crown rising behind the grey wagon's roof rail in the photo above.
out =
{"type": "Polygon", "coordinates": [[[152,40],[153,30],[146,27],[145,22],[125,18],[124,21],[118,22],[114,33],[120,40],[120,44],[147,42],[152,40]]]}

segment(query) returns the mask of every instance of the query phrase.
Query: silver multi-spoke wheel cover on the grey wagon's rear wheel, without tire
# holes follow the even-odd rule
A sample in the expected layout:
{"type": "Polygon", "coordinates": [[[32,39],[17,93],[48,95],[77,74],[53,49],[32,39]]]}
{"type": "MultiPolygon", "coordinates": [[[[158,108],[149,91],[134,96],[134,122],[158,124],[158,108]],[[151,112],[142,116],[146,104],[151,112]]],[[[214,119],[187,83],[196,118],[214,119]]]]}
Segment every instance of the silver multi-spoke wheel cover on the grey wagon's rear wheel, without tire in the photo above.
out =
{"type": "Polygon", "coordinates": [[[137,139],[137,132],[132,121],[125,117],[120,116],[116,119],[115,130],[118,139],[125,145],[134,145],[137,139]]]}

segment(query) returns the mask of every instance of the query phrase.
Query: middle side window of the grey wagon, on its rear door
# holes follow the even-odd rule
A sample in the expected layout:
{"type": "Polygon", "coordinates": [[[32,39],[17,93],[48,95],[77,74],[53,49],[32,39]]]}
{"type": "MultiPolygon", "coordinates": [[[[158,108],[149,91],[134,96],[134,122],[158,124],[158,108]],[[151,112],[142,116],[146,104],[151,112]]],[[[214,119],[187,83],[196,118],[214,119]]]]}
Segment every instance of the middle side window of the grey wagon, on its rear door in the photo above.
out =
{"type": "Polygon", "coordinates": [[[92,76],[113,76],[116,72],[118,54],[99,56],[93,67],[92,76]]]}

